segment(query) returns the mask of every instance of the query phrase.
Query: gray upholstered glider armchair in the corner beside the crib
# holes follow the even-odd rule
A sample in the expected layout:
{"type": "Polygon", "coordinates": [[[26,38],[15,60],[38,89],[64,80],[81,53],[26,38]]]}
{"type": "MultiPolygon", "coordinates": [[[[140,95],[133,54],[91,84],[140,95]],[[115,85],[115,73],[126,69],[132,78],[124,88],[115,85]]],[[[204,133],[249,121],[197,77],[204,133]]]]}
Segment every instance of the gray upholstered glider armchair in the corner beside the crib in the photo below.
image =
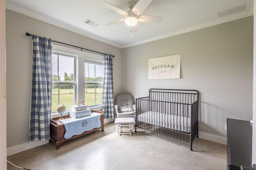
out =
{"type": "Polygon", "coordinates": [[[116,115],[117,117],[134,117],[136,116],[136,105],[134,98],[130,93],[120,93],[116,96],[116,115]]]}

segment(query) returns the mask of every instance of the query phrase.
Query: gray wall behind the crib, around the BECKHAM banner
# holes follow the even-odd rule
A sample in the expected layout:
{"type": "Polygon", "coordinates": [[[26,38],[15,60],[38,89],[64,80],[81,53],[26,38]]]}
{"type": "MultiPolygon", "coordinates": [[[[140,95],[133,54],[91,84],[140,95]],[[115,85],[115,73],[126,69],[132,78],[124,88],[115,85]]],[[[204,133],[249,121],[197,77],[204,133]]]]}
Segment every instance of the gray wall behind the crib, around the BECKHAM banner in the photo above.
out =
{"type": "MultiPolygon", "coordinates": [[[[124,91],[200,92],[199,131],[226,137],[226,118],[252,119],[253,17],[122,49],[124,91]],[[148,59],[181,54],[181,78],[148,80],[148,59]]],[[[200,137],[200,134],[199,134],[200,137]]]]}

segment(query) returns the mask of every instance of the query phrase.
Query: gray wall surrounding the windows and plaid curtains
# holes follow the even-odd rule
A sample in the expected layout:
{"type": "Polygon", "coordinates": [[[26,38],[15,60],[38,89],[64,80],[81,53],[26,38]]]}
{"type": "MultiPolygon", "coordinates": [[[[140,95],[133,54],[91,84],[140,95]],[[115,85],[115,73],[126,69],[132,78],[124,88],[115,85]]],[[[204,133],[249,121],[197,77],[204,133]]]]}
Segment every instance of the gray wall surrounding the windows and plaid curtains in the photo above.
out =
{"type": "MultiPolygon", "coordinates": [[[[28,142],[32,37],[26,32],[114,57],[114,94],[122,92],[122,50],[54,25],[6,10],[7,148],[28,142]]],[[[33,143],[33,142],[32,142],[33,143]]],[[[28,144],[32,145],[32,144],[28,144]]]]}

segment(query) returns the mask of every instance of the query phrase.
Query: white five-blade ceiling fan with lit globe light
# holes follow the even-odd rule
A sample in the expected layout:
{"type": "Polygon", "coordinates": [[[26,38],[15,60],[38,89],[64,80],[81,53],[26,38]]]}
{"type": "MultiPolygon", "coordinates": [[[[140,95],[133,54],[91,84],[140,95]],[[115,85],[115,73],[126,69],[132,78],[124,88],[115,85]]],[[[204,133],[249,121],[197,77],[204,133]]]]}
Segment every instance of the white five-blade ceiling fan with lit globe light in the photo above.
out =
{"type": "Polygon", "coordinates": [[[107,26],[114,25],[116,23],[125,22],[126,25],[133,27],[133,32],[138,31],[138,21],[141,22],[162,22],[164,18],[158,16],[140,15],[152,2],[152,0],[139,0],[137,3],[134,1],[127,2],[130,10],[125,12],[124,10],[109,4],[108,2],[102,2],[104,6],[117,12],[118,14],[124,15],[124,18],[107,23],[107,26]]]}

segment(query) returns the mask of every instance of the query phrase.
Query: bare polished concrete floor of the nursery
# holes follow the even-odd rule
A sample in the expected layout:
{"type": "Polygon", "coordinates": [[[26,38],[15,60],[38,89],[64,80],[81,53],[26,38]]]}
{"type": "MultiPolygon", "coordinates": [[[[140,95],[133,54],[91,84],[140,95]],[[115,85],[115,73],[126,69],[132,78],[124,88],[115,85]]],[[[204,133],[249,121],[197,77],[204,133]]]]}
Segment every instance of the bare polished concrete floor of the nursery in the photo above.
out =
{"type": "MultiPolygon", "coordinates": [[[[31,170],[225,170],[226,145],[196,138],[190,143],[137,129],[118,136],[114,122],[88,135],[13,154],[7,160],[31,170]]],[[[8,170],[18,170],[7,163],[8,170]]]]}

